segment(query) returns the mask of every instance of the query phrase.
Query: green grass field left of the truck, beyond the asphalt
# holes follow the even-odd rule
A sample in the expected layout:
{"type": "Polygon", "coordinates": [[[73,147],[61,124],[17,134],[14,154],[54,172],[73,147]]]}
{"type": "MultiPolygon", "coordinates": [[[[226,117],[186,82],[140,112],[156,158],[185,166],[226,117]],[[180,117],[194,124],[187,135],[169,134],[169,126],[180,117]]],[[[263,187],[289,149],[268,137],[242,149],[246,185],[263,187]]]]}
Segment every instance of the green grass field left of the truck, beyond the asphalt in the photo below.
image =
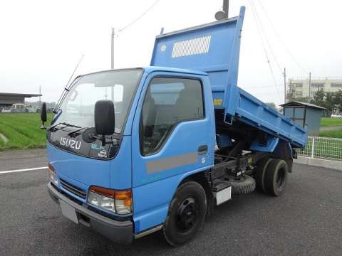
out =
{"type": "MultiPolygon", "coordinates": [[[[51,119],[52,114],[48,114],[48,123],[51,122],[51,119]]],[[[5,144],[0,138],[0,151],[44,147],[46,145],[46,132],[40,127],[40,114],[0,114],[0,133],[9,139],[5,144]]]]}

